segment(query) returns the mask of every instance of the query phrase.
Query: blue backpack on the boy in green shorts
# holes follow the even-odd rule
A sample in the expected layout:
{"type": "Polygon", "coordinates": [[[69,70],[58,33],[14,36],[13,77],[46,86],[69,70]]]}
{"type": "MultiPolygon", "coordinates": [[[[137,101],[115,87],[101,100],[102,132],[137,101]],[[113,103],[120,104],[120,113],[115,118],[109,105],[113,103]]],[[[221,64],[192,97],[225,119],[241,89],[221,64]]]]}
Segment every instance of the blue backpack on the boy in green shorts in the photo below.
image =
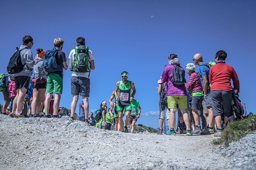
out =
{"type": "Polygon", "coordinates": [[[43,59],[43,68],[48,73],[54,73],[57,71],[62,71],[61,65],[57,64],[58,51],[57,49],[46,50],[45,59],[43,59]]]}

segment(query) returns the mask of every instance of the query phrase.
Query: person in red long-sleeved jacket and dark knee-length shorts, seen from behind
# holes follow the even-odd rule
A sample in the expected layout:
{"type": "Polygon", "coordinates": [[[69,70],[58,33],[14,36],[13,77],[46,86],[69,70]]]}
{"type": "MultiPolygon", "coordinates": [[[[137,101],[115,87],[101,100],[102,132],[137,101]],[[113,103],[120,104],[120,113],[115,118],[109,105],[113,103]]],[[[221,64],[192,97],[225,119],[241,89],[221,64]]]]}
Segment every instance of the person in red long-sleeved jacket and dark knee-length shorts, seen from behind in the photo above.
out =
{"type": "Polygon", "coordinates": [[[224,116],[232,117],[232,86],[230,79],[233,81],[233,86],[239,92],[239,79],[235,69],[225,63],[227,53],[224,50],[219,50],[216,53],[216,65],[210,69],[211,83],[211,98],[213,101],[213,116],[217,124],[217,134],[221,136],[221,104],[223,105],[224,116]]]}

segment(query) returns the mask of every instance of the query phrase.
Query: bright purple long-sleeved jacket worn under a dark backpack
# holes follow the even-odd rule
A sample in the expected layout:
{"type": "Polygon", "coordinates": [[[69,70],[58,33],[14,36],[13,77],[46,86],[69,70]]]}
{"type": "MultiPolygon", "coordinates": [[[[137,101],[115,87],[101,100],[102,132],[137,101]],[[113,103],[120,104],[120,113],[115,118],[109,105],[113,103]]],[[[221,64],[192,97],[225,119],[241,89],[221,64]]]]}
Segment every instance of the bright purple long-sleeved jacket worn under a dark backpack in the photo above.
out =
{"type": "MultiPolygon", "coordinates": [[[[180,69],[182,69],[182,72],[185,75],[185,70],[179,66],[180,69]]],[[[173,79],[173,70],[175,68],[175,65],[167,65],[164,68],[164,72],[161,78],[161,81],[163,83],[167,82],[167,95],[176,96],[176,95],[187,95],[185,84],[181,86],[174,86],[171,80],[173,79]]]]}

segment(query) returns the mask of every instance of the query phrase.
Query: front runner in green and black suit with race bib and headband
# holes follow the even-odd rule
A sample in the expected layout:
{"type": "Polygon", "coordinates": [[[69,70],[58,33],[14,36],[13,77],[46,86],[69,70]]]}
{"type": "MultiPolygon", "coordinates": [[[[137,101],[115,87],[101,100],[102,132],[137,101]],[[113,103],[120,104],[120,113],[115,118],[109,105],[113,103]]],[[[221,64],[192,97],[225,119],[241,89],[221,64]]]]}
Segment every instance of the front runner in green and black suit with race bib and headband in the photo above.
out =
{"type": "Polygon", "coordinates": [[[130,121],[130,102],[133,101],[134,95],[136,94],[135,85],[132,81],[128,81],[128,72],[121,72],[122,81],[118,81],[115,85],[115,100],[118,101],[117,113],[119,118],[120,131],[128,132],[127,126],[130,121]],[[131,94],[131,89],[132,94],[131,94]],[[117,95],[118,94],[118,95],[117,95]],[[123,122],[123,111],[126,111],[125,126],[123,122]]]}

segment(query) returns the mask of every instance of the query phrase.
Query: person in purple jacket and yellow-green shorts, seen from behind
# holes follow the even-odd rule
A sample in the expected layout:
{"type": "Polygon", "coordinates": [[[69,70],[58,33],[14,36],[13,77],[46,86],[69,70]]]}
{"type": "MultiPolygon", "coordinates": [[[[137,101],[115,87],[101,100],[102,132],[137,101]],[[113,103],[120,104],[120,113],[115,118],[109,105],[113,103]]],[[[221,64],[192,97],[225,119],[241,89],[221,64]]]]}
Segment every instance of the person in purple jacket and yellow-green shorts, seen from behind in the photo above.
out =
{"type": "Polygon", "coordinates": [[[180,60],[178,59],[176,54],[170,54],[168,57],[169,65],[164,68],[164,72],[162,75],[162,82],[167,82],[167,104],[170,109],[170,134],[175,135],[174,131],[174,120],[176,114],[176,102],[179,103],[180,111],[183,114],[183,119],[186,124],[186,135],[193,135],[190,128],[190,120],[187,110],[187,92],[185,84],[175,85],[173,82],[173,70],[176,66],[178,66],[182,70],[183,76],[185,76],[185,70],[180,66],[180,60]]]}

